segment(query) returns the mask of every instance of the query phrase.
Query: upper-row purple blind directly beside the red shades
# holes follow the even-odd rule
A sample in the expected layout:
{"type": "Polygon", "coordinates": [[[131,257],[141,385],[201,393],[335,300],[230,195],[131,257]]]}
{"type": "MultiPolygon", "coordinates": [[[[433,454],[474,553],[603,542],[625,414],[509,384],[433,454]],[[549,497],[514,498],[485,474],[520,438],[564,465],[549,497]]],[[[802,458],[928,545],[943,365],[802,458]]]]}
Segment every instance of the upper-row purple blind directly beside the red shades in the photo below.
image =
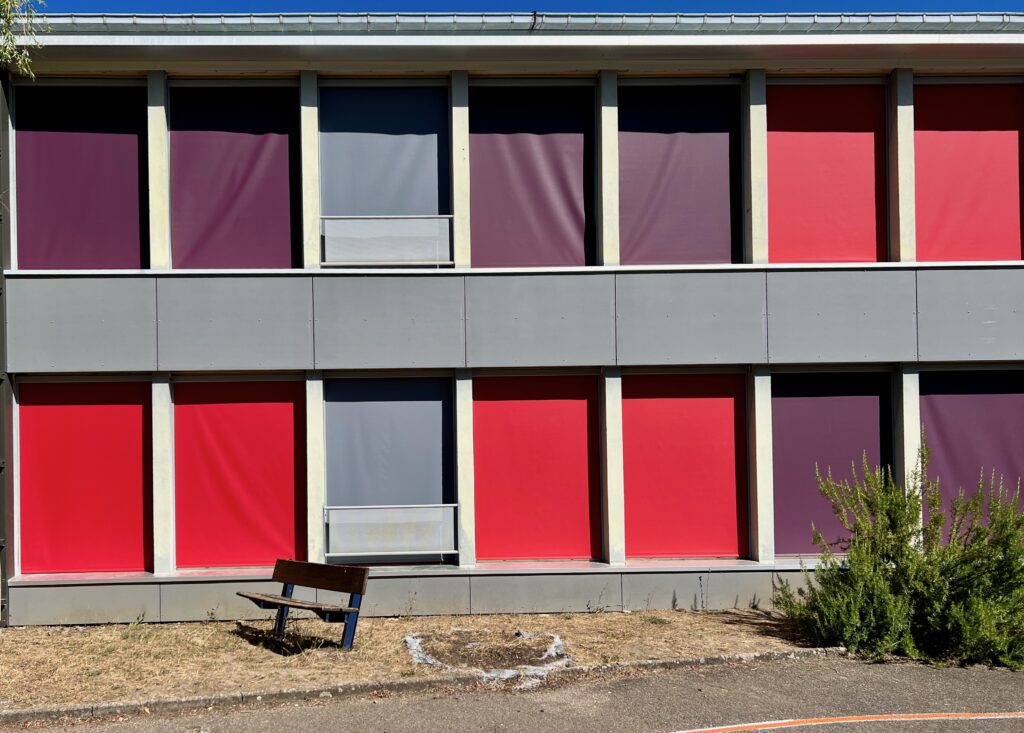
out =
{"type": "Polygon", "coordinates": [[[739,89],[618,89],[623,264],[738,262],[739,89]]]}

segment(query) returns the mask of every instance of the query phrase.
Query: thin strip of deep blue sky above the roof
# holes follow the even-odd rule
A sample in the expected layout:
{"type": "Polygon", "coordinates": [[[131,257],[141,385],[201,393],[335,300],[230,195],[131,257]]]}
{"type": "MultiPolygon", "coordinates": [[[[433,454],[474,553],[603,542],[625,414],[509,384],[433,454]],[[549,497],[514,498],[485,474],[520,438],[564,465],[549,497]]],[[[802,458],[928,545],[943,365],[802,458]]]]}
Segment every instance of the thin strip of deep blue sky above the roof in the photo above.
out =
{"type": "Polygon", "coordinates": [[[1024,10],[1024,0],[48,0],[46,12],[806,12],[1024,10]]]}

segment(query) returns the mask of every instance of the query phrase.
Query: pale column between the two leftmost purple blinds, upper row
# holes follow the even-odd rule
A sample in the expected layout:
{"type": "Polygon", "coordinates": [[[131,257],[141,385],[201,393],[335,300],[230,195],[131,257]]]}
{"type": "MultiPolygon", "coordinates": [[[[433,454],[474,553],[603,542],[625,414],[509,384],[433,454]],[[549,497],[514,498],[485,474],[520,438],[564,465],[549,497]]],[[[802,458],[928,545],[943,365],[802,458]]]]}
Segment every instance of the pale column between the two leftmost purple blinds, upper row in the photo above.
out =
{"type": "Polygon", "coordinates": [[[171,168],[167,74],[146,75],[146,148],[150,185],[150,267],[171,268],[171,168]]]}

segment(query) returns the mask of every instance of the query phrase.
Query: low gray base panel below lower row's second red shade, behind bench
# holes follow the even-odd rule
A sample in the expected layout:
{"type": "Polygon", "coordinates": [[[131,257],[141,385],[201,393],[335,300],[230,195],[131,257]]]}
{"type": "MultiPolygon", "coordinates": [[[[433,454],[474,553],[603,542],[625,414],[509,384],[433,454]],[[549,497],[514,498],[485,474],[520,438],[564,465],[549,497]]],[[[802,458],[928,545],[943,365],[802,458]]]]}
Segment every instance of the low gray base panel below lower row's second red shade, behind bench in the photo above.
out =
{"type": "MultiPolygon", "coordinates": [[[[281,584],[269,580],[252,581],[206,581],[166,583],[160,587],[160,620],[162,621],[207,621],[270,618],[274,611],[264,611],[252,601],[238,595],[248,593],[281,593],[281,584]]],[[[296,588],[295,598],[315,600],[316,592],[308,588],[296,588]]],[[[295,617],[308,614],[292,613],[295,617]]]]}

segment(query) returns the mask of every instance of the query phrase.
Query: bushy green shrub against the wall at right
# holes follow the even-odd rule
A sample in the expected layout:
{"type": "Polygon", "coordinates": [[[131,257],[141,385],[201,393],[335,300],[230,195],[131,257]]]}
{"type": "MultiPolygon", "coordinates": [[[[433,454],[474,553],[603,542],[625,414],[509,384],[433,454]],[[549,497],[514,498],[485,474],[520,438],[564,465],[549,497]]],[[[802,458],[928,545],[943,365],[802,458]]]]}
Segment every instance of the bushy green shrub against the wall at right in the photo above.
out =
{"type": "Polygon", "coordinates": [[[1020,487],[994,474],[942,506],[927,448],[907,486],[888,469],[851,481],[817,474],[845,529],[805,587],[776,586],[776,604],[816,644],[881,659],[1024,669],[1024,511],[1020,487]],[[924,521],[922,518],[927,517],[924,521]]]}

